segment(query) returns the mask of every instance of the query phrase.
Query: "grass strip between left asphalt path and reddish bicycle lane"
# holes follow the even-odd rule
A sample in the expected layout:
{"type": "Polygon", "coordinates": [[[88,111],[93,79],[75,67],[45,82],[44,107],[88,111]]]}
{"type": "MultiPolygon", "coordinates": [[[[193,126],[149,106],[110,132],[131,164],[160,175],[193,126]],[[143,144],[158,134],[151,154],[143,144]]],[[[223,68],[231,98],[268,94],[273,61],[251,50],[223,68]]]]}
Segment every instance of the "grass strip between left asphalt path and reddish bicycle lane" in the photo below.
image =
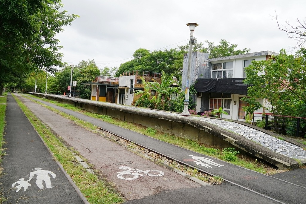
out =
{"type": "MultiPolygon", "coordinates": [[[[89,173],[78,163],[73,156],[72,150],[67,148],[61,141],[43,124],[18,98],[18,105],[28,117],[36,131],[43,138],[47,147],[53,152],[54,158],[61,163],[73,182],[80,189],[89,203],[122,203],[124,198],[119,195],[111,184],[100,180],[98,176],[89,173]]],[[[80,120],[79,120],[80,121],[80,120]]],[[[92,128],[89,126],[88,128],[92,128]]]]}

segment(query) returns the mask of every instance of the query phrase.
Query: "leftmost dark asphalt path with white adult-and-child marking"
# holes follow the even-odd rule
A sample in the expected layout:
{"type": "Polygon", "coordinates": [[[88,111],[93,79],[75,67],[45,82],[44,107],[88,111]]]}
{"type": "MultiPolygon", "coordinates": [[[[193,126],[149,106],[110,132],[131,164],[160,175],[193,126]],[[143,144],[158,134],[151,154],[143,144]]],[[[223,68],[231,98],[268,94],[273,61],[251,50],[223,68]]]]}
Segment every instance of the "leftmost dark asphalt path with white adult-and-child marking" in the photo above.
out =
{"type": "Polygon", "coordinates": [[[53,160],[11,94],[7,96],[5,155],[0,177],[4,203],[88,203],[53,160]]]}

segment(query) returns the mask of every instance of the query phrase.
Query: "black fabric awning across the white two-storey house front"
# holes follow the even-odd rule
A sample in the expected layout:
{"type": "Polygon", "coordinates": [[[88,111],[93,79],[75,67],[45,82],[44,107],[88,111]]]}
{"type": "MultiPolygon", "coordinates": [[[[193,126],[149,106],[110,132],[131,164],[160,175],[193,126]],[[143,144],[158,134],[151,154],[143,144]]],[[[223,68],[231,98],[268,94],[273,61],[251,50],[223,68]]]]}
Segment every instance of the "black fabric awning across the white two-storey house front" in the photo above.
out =
{"type": "Polygon", "coordinates": [[[244,84],[242,80],[245,78],[231,78],[231,79],[210,79],[200,78],[196,79],[194,88],[197,92],[204,93],[226,93],[226,94],[248,94],[248,85],[244,84]]]}

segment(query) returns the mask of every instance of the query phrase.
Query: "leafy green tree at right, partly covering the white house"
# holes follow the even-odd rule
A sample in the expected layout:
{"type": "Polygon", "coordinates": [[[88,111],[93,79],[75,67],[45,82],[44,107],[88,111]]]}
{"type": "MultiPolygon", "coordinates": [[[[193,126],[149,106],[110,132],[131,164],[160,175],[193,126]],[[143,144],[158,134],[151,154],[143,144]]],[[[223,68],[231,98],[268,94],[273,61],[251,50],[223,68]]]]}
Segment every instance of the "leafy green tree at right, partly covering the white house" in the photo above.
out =
{"type": "Polygon", "coordinates": [[[248,96],[251,97],[243,99],[250,104],[246,111],[253,113],[263,107],[256,99],[266,98],[270,106],[265,108],[271,113],[303,117],[306,108],[305,59],[303,48],[295,57],[281,50],[279,55],[267,61],[252,61],[245,68],[244,83],[250,85],[248,96]]]}

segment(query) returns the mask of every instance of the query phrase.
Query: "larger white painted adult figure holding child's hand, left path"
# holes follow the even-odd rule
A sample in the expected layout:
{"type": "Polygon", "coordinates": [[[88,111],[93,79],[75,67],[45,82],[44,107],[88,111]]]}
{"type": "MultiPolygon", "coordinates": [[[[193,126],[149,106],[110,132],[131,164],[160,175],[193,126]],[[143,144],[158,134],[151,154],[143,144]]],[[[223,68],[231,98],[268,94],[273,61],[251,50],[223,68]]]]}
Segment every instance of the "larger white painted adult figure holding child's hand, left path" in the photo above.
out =
{"type": "Polygon", "coordinates": [[[44,189],[43,186],[43,181],[46,184],[46,188],[53,188],[54,186],[51,185],[51,180],[50,180],[50,176],[48,174],[51,174],[51,176],[55,179],[56,174],[51,172],[51,171],[47,171],[47,170],[41,170],[42,168],[34,168],[33,171],[30,173],[30,177],[29,180],[32,180],[32,178],[34,178],[34,176],[36,175],[36,182],[35,184],[42,190],[44,189]]]}

